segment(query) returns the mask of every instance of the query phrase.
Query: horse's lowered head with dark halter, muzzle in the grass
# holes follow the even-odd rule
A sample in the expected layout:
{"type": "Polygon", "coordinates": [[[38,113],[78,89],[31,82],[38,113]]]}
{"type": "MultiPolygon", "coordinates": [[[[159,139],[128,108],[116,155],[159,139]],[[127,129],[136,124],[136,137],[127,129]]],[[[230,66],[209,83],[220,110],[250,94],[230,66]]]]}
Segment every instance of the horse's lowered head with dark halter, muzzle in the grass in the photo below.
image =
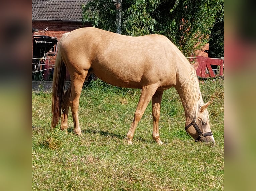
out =
{"type": "Polygon", "coordinates": [[[185,130],[189,133],[196,141],[202,142],[213,142],[214,138],[210,129],[209,113],[207,107],[210,103],[206,103],[200,106],[195,121],[187,121],[185,130]]]}

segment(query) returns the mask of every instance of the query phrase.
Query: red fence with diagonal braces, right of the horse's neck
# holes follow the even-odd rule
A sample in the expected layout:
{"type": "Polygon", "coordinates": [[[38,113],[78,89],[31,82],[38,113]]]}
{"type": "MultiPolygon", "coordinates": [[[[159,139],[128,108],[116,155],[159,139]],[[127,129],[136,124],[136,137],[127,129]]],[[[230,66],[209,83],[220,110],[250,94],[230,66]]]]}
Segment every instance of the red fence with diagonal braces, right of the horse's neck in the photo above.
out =
{"type": "Polygon", "coordinates": [[[215,59],[198,56],[196,58],[190,58],[190,62],[199,63],[196,71],[197,75],[202,78],[223,75],[224,59],[215,59]]]}

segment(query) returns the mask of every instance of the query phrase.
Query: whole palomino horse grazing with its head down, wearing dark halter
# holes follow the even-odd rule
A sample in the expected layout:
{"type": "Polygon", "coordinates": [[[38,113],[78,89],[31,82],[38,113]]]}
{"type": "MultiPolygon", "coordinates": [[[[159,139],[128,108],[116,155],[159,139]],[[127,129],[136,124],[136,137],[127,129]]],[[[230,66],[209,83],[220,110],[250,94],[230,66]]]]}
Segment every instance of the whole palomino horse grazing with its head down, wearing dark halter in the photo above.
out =
{"type": "Polygon", "coordinates": [[[153,139],[159,137],[158,122],[163,91],[174,86],[185,110],[185,130],[196,141],[214,142],[209,114],[204,104],[196,71],[181,51],[162,35],[124,36],[97,28],[80,28],[65,33],[59,41],[52,93],[52,123],[61,118],[61,129],[68,128],[71,107],[74,131],[81,134],[78,105],[82,86],[93,73],[101,80],[120,87],[142,89],[127,143],[152,99],[153,139]],[[65,72],[71,84],[64,93],[65,72]]]}

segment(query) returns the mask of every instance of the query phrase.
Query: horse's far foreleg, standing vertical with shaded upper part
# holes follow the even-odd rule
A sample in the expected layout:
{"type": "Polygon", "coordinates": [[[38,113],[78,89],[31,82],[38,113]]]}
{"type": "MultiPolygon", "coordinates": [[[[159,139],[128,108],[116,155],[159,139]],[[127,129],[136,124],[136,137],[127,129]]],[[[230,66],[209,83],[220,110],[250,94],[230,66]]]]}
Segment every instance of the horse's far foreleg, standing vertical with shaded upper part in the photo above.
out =
{"type": "Polygon", "coordinates": [[[160,119],[160,109],[162,101],[163,91],[156,91],[152,97],[152,115],[153,115],[153,139],[158,144],[163,144],[159,136],[159,119],[160,119]]]}

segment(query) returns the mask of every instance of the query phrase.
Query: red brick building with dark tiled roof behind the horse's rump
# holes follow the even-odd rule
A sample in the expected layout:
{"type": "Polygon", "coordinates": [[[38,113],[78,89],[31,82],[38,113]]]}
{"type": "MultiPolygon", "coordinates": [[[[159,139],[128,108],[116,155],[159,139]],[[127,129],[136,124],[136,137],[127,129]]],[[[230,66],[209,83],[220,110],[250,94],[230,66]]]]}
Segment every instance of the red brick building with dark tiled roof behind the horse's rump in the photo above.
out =
{"type": "Polygon", "coordinates": [[[57,41],[82,25],[82,4],[88,0],[32,0],[32,80],[51,80],[57,41]],[[44,59],[41,59],[44,58],[44,59]],[[44,70],[42,72],[36,72],[44,70]]]}

